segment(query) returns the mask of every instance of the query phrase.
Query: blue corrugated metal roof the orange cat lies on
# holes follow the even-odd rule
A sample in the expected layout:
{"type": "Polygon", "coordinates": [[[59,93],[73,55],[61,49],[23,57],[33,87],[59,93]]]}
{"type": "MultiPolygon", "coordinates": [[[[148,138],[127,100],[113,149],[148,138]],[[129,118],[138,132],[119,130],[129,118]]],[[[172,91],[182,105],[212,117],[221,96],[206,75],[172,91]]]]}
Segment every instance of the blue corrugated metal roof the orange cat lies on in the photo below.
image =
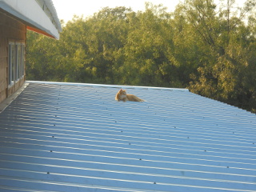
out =
{"type": "Polygon", "coordinates": [[[256,191],[256,118],[188,90],[30,82],[0,114],[0,191],[256,191]]]}

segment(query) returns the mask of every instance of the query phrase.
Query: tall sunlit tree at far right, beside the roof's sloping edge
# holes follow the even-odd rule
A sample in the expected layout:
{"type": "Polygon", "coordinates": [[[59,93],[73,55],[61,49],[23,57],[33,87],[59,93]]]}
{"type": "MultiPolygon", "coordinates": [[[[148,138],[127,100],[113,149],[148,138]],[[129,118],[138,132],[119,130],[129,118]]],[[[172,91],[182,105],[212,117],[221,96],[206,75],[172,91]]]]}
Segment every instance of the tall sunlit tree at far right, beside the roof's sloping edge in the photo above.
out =
{"type": "Polygon", "coordinates": [[[191,75],[194,81],[190,82],[190,89],[206,97],[254,110],[255,106],[246,104],[246,100],[251,103],[254,98],[254,89],[249,86],[245,76],[254,67],[254,64],[249,64],[251,59],[248,55],[252,53],[248,53],[254,52],[250,43],[254,42],[252,38],[255,36],[243,19],[255,4],[246,2],[246,6],[234,14],[230,11],[234,9],[232,5],[234,1],[228,0],[226,9],[221,7],[217,12],[213,1],[186,3],[188,21],[193,23],[194,30],[205,44],[204,47],[209,46],[210,54],[215,58],[198,67],[197,75],[191,75]]]}

